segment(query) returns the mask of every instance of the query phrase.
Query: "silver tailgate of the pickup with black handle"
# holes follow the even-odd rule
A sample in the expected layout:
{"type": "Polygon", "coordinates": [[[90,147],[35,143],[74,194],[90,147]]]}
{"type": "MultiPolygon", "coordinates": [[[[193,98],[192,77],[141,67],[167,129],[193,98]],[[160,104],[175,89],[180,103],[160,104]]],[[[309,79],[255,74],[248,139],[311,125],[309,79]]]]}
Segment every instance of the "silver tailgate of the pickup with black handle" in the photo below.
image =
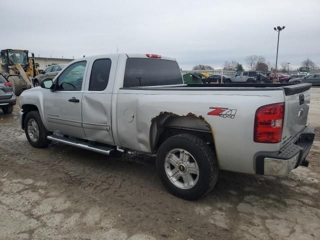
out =
{"type": "Polygon", "coordinates": [[[311,84],[295,84],[284,88],[285,116],[282,144],[287,143],[306,125],[310,103],[311,84]]]}

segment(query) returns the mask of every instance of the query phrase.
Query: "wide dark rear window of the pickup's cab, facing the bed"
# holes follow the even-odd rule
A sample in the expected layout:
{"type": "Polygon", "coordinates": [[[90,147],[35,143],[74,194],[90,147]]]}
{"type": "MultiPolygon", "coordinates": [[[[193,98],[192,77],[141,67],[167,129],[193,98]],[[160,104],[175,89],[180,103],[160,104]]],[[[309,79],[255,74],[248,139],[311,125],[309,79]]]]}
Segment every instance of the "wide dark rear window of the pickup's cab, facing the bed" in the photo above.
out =
{"type": "Polygon", "coordinates": [[[126,59],[123,87],[183,84],[176,61],[129,57],[126,59]]]}

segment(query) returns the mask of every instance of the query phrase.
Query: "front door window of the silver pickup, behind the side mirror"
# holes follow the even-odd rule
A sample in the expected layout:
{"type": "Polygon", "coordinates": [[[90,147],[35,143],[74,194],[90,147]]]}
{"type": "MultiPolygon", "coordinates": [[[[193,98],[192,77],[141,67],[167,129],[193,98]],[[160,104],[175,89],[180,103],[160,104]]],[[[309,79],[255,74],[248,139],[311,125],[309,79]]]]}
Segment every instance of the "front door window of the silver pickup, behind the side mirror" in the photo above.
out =
{"type": "Polygon", "coordinates": [[[58,77],[57,90],[81,90],[86,61],[69,65],[58,77]]]}

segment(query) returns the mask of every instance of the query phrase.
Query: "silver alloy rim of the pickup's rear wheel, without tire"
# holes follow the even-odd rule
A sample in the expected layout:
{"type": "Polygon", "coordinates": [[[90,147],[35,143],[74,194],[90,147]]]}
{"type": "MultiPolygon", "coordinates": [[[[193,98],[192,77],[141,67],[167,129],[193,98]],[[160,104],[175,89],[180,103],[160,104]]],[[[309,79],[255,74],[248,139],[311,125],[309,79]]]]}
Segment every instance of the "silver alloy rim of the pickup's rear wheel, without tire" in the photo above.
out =
{"type": "Polygon", "coordinates": [[[199,168],[194,157],[186,150],[170,150],[164,159],[166,176],[177,187],[189,189],[199,179],[199,168]]]}

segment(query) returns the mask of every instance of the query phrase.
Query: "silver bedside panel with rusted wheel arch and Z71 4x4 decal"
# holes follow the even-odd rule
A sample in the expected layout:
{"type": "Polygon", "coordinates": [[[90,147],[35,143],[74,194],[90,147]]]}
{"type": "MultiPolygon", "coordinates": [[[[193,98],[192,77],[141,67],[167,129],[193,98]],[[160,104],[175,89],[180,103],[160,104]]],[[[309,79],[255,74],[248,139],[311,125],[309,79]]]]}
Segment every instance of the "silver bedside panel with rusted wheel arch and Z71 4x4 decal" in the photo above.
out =
{"type": "MultiPolygon", "coordinates": [[[[221,169],[255,173],[254,155],[259,151],[276,152],[281,143],[253,142],[255,111],[266,104],[283,102],[282,90],[134,90],[120,89],[117,94],[117,133],[120,145],[151,152],[151,119],[160,112],[201,115],[210,124],[216,156],[221,169]],[[208,115],[210,107],[232,109],[234,117],[208,115]],[[127,121],[127,113],[134,115],[127,121]]],[[[113,127],[113,126],[112,126],[113,127]]]]}

